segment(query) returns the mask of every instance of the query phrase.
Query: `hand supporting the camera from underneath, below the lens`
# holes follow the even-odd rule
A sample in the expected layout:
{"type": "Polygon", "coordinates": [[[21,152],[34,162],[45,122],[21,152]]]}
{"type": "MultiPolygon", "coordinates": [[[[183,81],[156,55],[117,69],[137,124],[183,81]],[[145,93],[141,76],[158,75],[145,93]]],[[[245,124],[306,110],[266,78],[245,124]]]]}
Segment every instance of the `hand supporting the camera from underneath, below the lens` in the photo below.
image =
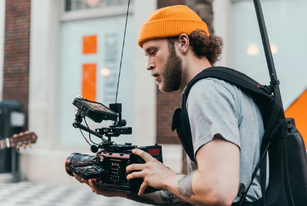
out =
{"type": "Polygon", "coordinates": [[[98,195],[102,195],[102,196],[105,196],[105,197],[126,197],[125,192],[118,192],[118,191],[112,191],[112,190],[97,188],[94,180],[91,180],[91,179],[90,180],[84,180],[80,176],[76,175],[75,173],[73,173],[73,174],[74,174],[74,177],[76,178],[76,180],[78,180],[80,183],[85,183],[88,186],[90,186],[92,191],[95,192],[98,195]]]}

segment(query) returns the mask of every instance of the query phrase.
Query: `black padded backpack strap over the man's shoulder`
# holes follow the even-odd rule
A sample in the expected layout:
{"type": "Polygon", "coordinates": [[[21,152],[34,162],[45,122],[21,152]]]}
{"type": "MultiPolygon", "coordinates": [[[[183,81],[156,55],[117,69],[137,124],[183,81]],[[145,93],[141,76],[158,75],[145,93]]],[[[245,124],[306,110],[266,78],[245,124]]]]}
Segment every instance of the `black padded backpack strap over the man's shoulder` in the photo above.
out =
{"type": "MultiPolygon", "coordinates": [[[[196,160],[194,157],[194,149],[192,143],[192,135],[190,130],[190,125],[188,121],[188,114],[186,110],[186,103],[188,99],[188,94],[192,86],[199,80],[204,78],[217,78],[229,82],[238,86],[240,89],[247,90],[248,93],[251,93],[252,97],[257,100],[257,97],[260,99],[266,99],[267,103],[269,101],[274,101],[274,106],[272,110],[270,110],[269,118],[264,122],[265,133],[262,139],[261,147],[260,147],[260,161],[258,162],[255,171],[252,174],[252,179],[249,187],[245,191],[244,195],[241,197],[239,201],[239,205],[242,205],[247,192],[257,174],[258,169],[260,168],[260,178],[261,178],[261,192],[262,192],[262,205],[265,203],[265,191],[266,191],[266,159],[267,159],[267,151],[270,145],[270,142],[273,137],[286,137],[286,129],[287,125],[286,121],[280,121],[284,119],[284,113],[281,111],[281,101],[276,101],[276,99],[271,95],[274,93],[274,87],[272,85],[261,85],[255,80],[251,79],[247,75],[240,73],[234,69],[230,69],[227,67],[211,67],[204,69],[200,73],[198,73],[190,82],[188,82],[187,86],[182,92],[181,99],[181,108],[175,110],[172,120],[172,130],[177,130],[178,137],[185,149],[185,152],[189,156],[189,158],[194,161],[196,164],[196,160]],[[281,116],[283,115],[283,116],[281,116]],[[280,126],[282,128],[280,128],[280,126]],[[282,132],[282,133],[281,133],[282,132]]],[[[263,113],[262,113],[263,114],[263,113]]]]}

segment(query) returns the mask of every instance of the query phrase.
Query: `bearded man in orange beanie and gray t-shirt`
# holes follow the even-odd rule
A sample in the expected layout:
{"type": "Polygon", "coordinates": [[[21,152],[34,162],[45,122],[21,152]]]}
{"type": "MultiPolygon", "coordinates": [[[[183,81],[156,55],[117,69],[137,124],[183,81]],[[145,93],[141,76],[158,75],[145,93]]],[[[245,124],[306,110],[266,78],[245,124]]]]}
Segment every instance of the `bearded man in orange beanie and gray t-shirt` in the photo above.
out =
{"type": "MultiPolygon", "coordinates": [[[[209,35],[207,25],[186,6],[170,6],[150,14],[141,27],[138,45],[148,58],[147,70],[162,92],[180,89],[203,69],[212,67],[222,51],[222,40],[209,35]]],[[[126,197],[152,205],[222,205],[237,202],[250,184],[259,160],[264,133],[262,117],[251,97],[225,81],[206,78],[190,90],[186,105],[197,165],[188,158],[188,176],[176,174],[148,153],[135,149],[145,164],[127,166],[127,179],[142,177],[138,195],[93,192],[126,197]],[[147,186],[161,191],[142,194],[147,186]]],[[[268,177],[268,174],[267,174],[268,177]]],[[[261,197],[259,172],[246,201],[261,197]]]]}

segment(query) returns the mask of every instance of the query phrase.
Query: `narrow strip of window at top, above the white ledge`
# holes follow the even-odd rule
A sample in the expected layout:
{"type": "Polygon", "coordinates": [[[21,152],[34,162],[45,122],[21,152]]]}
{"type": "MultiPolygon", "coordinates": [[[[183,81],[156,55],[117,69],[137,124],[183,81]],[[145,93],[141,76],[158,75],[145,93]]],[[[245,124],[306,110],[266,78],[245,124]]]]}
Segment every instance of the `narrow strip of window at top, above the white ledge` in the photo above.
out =
{"type": "MultiPolygon", "coordinates": [[[[65,0],[65,11],[102,8],[128,4],[129,0],[65,0]]],[[[132,3],[133,0],[130,0],[132,3]]]]}

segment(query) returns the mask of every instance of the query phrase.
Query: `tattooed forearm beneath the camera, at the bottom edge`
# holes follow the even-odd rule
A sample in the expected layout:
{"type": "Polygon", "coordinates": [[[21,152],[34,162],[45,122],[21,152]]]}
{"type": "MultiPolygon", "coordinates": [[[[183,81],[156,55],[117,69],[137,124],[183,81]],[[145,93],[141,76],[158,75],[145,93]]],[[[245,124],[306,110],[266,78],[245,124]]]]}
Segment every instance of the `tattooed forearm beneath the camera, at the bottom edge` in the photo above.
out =
{"type": "Polygon", "coordinates": [[[169,190],[161,190],[149,194],[143,194],[138,196],[137,194],[128,194],[127,199],[134,200],[136,202],[156,205],[156,206],[192,206],[193,204],[187,203],[177,196],[175,196],[169,190]]]}

